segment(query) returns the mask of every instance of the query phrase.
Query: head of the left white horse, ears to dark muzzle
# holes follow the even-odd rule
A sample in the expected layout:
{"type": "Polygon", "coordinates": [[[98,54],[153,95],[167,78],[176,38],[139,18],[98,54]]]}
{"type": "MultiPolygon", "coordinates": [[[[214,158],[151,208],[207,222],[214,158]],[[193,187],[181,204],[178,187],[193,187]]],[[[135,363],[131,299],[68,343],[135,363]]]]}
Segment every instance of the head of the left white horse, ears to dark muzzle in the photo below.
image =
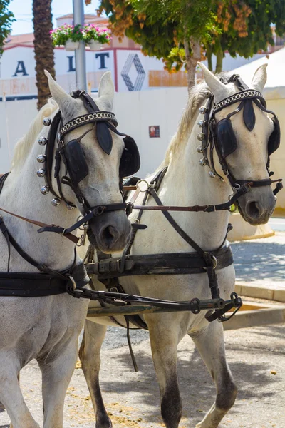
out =
{"type": "MultiPolygon", "coordinates": [[[[48,85],[53,99],[58,103],[61,111],[62,123],[60,128],[66,123],[70,123],[78,116],[86,115],[88,110],[84,106],[83,99],[73,98],[53,80],[46,72],[48,85]]],[[[110,112],[113,108],[114,86],[110,72],[103,75],[100,81],[98,99],[95,100],[99,111],[110,112]]],[[[90,112],[89,112],[90,113],[90,112]]],[[[108,120],[108,119],[107,119],[108,120]]],[[[64,200],[76,205],[83,213],[84,204],[93,208],[98,205],[108,205],[123,203],[120,191],[119,175],[120,161],[124,151],[123,138],[106,126],[107,120],[96,123],[86,123],[78,128],[71,128],[71,131],[61,137],[65,147],[65,154],[69,156],[67,173],[66,165],[61,160],[61,178],[66,175],[65,183],[61,184],[64,200]],[[104,124],[103,136],[100,135],[98,142],[98,126],[104,124]],[[113,142],[112,142],[113,140],[113,142]],[[71,141],[76,141],[69,146],[72,148],[66,153],[66,146],[71,141]],[[105,146],[107,145],[107,146],[105,146]],[[104,148],[107,147],[106,150],[104,148]],[[110,150],[111,148],[111,150],[110,150]],[[108,152],[110,152],[108,154],[108,152]],[[80,179],[74,187],[66,185],[71,179],[71,169],[79,175],[80,179]],[[76,195],[77,193],[77,195],[76,195]],[[79,194],[79,197],[78,197],[79,194]]],[[[100,128],[102,129],[102,127],[100,128]]],[[[114,128],[115,129],[115,128],[114,128]]],[[[74,181],[74,180],[73,180],[74,181]]],[[[58,182],[52,179],[53,188],[58,190],[58,182]]],[[[90,240],[105,253],[122,250],[128,243],[130,236],[130,221],[125,215],[125,210],[110,210],[93,218],[89,222],[92,233],[90,240]]]]}

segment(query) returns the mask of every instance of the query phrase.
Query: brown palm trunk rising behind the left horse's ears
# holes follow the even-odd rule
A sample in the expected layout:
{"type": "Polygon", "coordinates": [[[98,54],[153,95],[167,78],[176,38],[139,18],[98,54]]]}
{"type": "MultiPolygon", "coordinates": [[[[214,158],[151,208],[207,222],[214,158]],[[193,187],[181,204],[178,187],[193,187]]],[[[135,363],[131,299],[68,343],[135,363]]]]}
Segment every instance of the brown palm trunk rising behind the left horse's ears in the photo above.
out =
{"type": "Polygon", "coordinates": [[[33,0],[33,31],[36,59],[36,86],[38,87],[38,109],[51,96],[48,89],[48,80],[43,73],[46,69],[55,76],[53,45],[50,31],[53,28],[51,14],[51,0],[33,0]]]}

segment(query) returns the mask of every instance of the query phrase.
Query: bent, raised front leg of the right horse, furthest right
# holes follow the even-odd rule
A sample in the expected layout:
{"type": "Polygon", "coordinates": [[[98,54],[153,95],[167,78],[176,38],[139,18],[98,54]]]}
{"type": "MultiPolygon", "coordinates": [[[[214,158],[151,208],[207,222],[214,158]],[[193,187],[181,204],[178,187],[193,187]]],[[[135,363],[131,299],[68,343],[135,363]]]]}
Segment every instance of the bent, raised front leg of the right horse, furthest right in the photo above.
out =
{"type": "Polygon", "coordinates": [[[237,396],[237,387],[224,352],[222,324],[217,321],[210,322],[206,329],[195,334],[190,333],[190,337],[195,342],[217,388],[214,404],[196,428],[216,428],[237,396]]]}

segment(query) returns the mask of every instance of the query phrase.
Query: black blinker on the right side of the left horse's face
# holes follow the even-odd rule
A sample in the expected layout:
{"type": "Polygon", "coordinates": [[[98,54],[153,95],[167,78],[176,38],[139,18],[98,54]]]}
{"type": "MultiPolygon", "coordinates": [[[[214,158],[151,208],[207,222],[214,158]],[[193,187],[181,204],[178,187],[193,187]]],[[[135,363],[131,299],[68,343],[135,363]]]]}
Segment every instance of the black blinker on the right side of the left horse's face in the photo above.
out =
{"type": "Polygon", "coordinates": [[[125,148],[120,158],[120,177],[128,177],[140,169],[140,153],[132,137],[126,136],[123,140],[125,148]]]}

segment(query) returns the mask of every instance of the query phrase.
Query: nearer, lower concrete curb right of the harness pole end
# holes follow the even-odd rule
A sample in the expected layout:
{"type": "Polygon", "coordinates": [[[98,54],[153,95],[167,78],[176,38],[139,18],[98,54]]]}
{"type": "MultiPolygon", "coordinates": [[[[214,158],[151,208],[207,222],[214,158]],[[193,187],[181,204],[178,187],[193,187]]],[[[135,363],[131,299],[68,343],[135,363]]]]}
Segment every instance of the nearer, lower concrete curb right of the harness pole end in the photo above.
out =
{"type": "MultiPolygon", "coordinates": [[[[244,302],[244,304],[247,304],[247,302],[244,302]]],[[[238,328],[285,322],[285,306],[283,305],[254,303],[254,307],[255,309],[253,310],[242,310],[241,308],[234,317],[224,322],[224,330],[237,330],[238,328]]]]}

